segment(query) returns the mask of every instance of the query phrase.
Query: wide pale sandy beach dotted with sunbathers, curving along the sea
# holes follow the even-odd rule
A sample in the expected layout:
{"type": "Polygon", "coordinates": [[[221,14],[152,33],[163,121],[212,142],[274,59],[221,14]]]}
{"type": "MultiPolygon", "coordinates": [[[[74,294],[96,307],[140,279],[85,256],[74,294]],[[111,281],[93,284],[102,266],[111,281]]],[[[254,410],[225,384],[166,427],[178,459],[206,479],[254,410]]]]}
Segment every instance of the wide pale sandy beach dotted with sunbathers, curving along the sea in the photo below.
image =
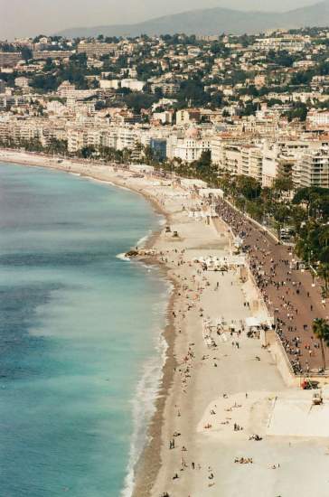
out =
{"type": "Polygon", "coordinates": [[[174,291],[164,330],[167,361],[134,497],[326,497],[328,391],[321,409],[312,408],[312,392],[287,386],[261,334],[248,336],[251,318],[270,324],[270,316],[248,267],[231,253],[228,225],[191,215],[206,210],[193,188],[119,167],[14,151],[0,151],[0,161],[139,192],[170,227],[142,253],[164,268],[174,291]],[[202,261],[210,258],[221,267],[226,260],[228,270],[204,270],[202,261]]]}

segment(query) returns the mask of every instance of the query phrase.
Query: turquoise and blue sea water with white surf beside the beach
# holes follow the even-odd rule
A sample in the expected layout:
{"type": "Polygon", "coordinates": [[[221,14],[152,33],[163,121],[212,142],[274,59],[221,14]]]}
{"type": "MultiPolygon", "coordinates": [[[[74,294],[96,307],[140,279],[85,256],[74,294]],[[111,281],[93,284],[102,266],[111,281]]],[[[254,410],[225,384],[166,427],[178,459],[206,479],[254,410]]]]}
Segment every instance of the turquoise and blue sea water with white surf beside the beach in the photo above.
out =
{"type": "Polygon", "coordinates": [[[1,497],[129,487],[168,286],[117,256],[159,221],[133,192],[0,165],[1,497]]]}

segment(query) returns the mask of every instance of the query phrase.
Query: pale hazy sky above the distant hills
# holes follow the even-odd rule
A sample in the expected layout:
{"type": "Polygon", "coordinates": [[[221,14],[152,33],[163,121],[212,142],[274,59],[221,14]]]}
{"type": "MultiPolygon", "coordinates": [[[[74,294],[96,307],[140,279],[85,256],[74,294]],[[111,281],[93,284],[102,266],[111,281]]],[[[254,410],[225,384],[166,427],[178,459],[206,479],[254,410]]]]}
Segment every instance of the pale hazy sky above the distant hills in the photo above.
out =
{"type": "Polygon", "coordinates": [[[316,0],[0,0],[0,40],[75,26],[136,23],[195,8],[288,10],[316,0]]]}

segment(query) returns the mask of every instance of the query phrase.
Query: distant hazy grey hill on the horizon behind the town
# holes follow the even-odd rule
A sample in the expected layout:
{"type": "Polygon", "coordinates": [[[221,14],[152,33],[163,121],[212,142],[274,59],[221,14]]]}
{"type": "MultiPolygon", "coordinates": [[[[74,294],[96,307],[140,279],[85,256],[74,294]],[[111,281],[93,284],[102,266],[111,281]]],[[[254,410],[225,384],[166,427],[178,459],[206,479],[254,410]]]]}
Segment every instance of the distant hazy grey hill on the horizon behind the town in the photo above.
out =
{"type": "Polygon", "coordinates": [[[165,15],[136,24],[113,24],[77,27],[58,34],[68,37],[138,36],[152,34],[220,34],[260,33],[273,28],[300,28],[329,25],[329,0],[285,13],[244,12],[212,8],[165,15]]]}

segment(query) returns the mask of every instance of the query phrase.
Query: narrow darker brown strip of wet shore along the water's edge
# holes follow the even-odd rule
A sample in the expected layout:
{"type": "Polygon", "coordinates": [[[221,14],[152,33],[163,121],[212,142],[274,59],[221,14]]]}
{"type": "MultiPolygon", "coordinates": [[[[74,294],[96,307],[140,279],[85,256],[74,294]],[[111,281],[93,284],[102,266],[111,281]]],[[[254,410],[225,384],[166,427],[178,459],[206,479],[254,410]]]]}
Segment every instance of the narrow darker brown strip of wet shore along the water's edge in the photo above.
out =
{"type": "MultiPolygon", "coordinates": [[[[71,173],[72,175],[77,175],[81,178],[86,178],[89,180],[94,180],[99,183],[104,183],[108,184],[117,188],[122,188],[124,190],[127,190],[129,192],[135,192],[137,194],[142,195],[145,199],[146,202],[149,202],[155,211],[155,213],[160,214],[164,217],[165,223],[170,224],[170,213],[168,211],[164,210],[164,206],[161,205],[159,202],[156,201],[154,197],[152,197],[150,194],[143,192],[143,190],[140,189],[134,189],[132,187],[127,187],[125,182],[120,182],[120,181],[107,181],[107,180],[101,180],[97,177],[97,175],[90,175],[86,173],[74,173],[71,171],[71,169],[63,168],[61,164],[40,164],[39,160],[35,160],[37,157],[41,158],[42,161],[47,161],[51,160],[51,157],[47,157],[46,155],[36,155],[33,154],[30,156],[28,153],[17,153],[15,157],[8,157],[8,156],[3,156],[2,150],[0,150],[0,161],[9,163],[9,164],[17,164],[17,165],[24,165],[26,167],[40,167],[43,169],[51,169],[54,171],[59,171],[59,172],[64,172],[64,173],[71,173]],[[22,162],[17,162],[17,159],[19,158],[18,155],[22,155],[22,162]],[[26,155],[29,155],[29,157],[26,159],[26,155]]],[[[7,151],[5,151],[7,152],[7,151]]],[[[12,151],[9,151],[12,152],[12,151]]],[[[79,166],[81,163],[72,161],[72,165],[79,166]]],[[[92,164],[90,164],[92,165],[92,164]]],[[[96,167],[98,164],[96,164],[96,167]]],[[[118,167],[119,170],[119,167],[118,167]]],[[[120,170],[121,173],[125,173],[125,170],[120,170]]],[[[148,236],[146,235],[146,242],[143,244],[144,248],[146,249],[152,249],[155,247],[156,240],[159,238],[161,234],[162,229],[158,228],[154,231],[152,231],[148,236]]],[[[146,265],[152,265],[156,266],[160,275],[164,277],[167,281],[169,281],[170,285],[172,286],[170,290],[170,295],[168,302],[166,304],[166,309],[164,312],[164,317],[165,317],[165,326],[164,329],[160,332],[161,336],[164,338],[164,342],[167,345],[166,352],[165,352],[165,359],[164,359],[164,365],[162,367],[162,372],[161,372],[161,377],[159,378],[159,389],[157,391],[157,395],[154,399],[154,407],[155,407],[155,414],[151,417],[151,419],[148,421],[148,427],[147,427],[147,435],[146,435],[146,441],[145,445],[141,451],[141,454],[138,456],[138,460],[135,464],[134,468],[134,487],[133,491],[131,493],[132,497],[135,497],[137,495],[147,495],[149,492],[151,492],[153,483],[155,482],[156,475],[158,474],[160,467],[161,467],[161,459],[160,459],[160,447],[161,447],[161,427],[163,425],[163,417],[164,417],[164,403],[168,395],[168,390],[170,386],[173,383],[174,380],[174,367],[176,366],[176,361],[174,360],[174,334],[175,334],[175,329],[174,329],[174,318],[173,318],[173,308],[174,308],[174,302],[177,297],[177,284],[174,279],[174,277],[171,277],[169,274],[169,268],[165,267],[164,264],[160,264],[158,261],[152,259],[152,258],[137,258],[135,259],[135,262],[142,262],[146,265]],[[156,462],[155,462],[156,460],[156,462]],[[152,462],[152,464],[150,464],[152,462]],[[153,468],[152,473],[149,473],[149,467],[153,468]],[[146,476],[147,475],[147,476],[146,476]]],[[[128,476],[128,474],[127,474],[128,476]]],[[[126,477],[127,477],[126,476],[126,477]]],[[[122,490],[124,492],[125,489],[122,490]]]]}

